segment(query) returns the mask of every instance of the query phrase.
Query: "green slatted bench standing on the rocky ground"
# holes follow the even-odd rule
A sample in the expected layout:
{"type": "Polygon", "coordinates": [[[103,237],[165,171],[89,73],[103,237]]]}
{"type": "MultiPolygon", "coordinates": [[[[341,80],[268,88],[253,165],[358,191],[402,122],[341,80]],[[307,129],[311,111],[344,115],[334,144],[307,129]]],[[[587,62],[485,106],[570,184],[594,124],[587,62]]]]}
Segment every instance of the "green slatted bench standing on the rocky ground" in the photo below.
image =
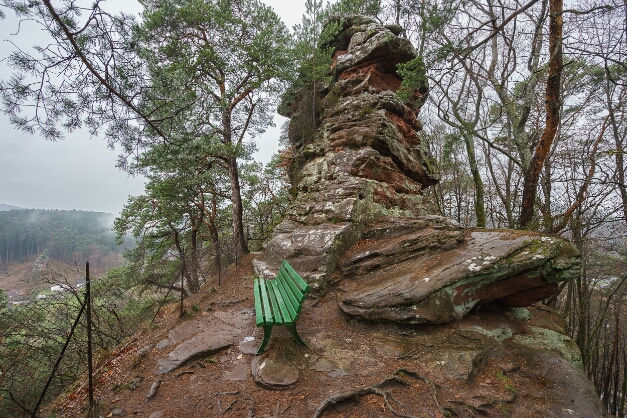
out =
{"type": "Polygon", "coordinates": [[[283,325],[294,340],[307,345],[296,332],[296,321],[311,289],[287,261],[281,263],[275,279],[255,279],[255,317],[258,327],[263,327],[263,342],[257,354],[263,352],[270,341],[272,327],[283,325]]]}

